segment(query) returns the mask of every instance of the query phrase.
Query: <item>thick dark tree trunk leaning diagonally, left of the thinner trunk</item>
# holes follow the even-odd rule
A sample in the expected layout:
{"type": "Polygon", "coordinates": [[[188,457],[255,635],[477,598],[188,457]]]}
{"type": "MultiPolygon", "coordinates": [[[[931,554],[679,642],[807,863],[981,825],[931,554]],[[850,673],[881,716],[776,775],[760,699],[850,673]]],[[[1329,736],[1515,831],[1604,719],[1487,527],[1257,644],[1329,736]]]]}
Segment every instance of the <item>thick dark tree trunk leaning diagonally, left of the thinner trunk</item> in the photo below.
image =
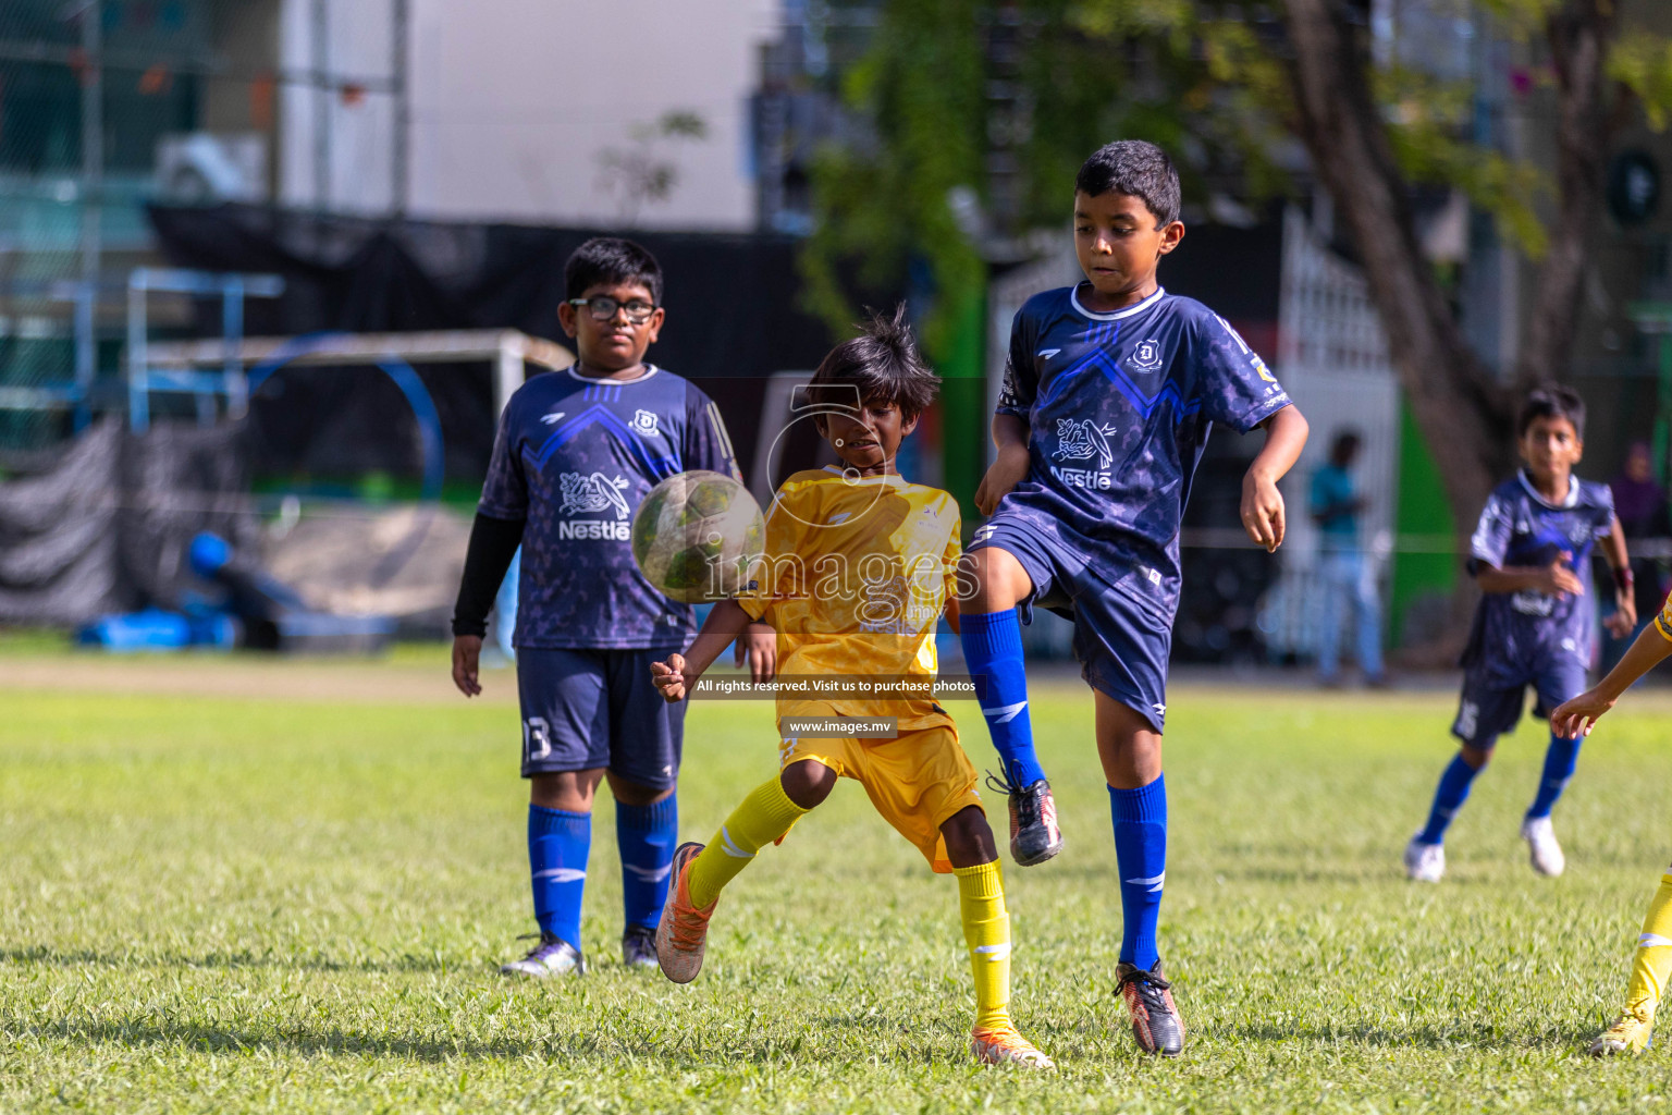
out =
{"type": "Polygon", "coordinates": [[[1440,465],[1460,548],[1510,460],[1510,396],[1463,339],[1423,257],[1408,187],[1338,0],[1284,0],[1294,130],[1363,257],[1399,384],[1440,465]]]}

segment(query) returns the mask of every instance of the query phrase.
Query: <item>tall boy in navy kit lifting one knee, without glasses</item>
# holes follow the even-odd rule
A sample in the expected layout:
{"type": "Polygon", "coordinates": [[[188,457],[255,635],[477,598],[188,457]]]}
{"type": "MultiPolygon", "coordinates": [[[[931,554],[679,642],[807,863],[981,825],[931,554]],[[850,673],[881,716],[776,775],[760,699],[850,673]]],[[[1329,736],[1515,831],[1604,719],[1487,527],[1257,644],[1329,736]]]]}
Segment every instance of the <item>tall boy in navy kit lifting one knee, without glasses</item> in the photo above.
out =
{"type": "Polygon", "coordinates": [[[1124,936],[1119,995],[1147,1053],[1175,1056],[1184,1023],[1155,950],[1167,869],[1162,719],[1179,607],[1179,525],[1209,428],[1266,430],[1242,481],[1242,523],[1276,550],[1277,480],[1306,420],[1222,318],[1155,283],[1179,246],[1179,174],[1154,144],[1102,147],[1075,181],[1073,242],[1085,283],[1017,313],[993,416],[998,455],[975,501],[963,575],[963,654],[1010,792],[1010,851],[1037,864],[1062,849],[1050,782],[1033,752],[1022,622],[1033,607],[1073,620],[1097,709],[1124,936]]]}

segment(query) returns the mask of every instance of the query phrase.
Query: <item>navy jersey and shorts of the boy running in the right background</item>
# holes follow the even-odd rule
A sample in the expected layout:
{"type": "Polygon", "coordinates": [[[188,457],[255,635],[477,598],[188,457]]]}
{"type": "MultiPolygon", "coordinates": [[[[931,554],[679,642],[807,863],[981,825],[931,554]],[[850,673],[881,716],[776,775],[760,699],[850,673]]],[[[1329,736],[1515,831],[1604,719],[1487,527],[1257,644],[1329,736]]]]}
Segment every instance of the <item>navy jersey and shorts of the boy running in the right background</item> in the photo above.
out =
{"type": "MultiPolygon", "coordinates": [[[[1590,580],[1590,552],[1613,525],[1607,485],[1568,478],[1562,503],[1548,503],[1525,473],[1493,488],[1470,540],[1468,567],[1550,565],[1570,553],[1567,567],[1590,580]]],[[[1593,608],[1590,597],[1548,595],[1537,588],[1488,592],[1475,608],[1463,665],[1485,670],[1505,685],[1522,685],[1542,665],[1570,657],[1590,665],[1593,608]]]]}

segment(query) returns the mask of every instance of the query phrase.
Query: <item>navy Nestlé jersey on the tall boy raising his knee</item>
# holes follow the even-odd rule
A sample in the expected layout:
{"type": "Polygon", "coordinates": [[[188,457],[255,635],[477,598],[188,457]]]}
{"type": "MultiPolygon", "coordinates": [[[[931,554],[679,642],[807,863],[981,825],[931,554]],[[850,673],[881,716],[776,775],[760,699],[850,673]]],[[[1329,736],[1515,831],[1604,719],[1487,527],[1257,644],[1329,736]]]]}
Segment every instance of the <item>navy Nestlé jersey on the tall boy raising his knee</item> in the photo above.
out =
{"type": "Polygon", "coordinates": [[[1179,525],[1211,425],[1247,433],[1287,405],[1266,363],[1195,299],[1157,289],[1092,313],[1075,288],[1035,294],[1010,328],[998,400],[1000,415],[1028,421],[1030,468],[1000,513],[1083,555],[1170,627],[1179,525]]]}

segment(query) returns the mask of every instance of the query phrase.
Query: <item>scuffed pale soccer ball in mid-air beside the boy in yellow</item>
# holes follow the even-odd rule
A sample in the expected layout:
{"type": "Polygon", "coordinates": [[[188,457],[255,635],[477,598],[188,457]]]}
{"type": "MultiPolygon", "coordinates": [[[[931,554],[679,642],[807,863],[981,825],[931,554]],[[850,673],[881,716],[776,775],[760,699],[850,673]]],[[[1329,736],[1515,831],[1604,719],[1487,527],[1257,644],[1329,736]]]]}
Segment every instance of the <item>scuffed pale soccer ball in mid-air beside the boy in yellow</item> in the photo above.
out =
{"type": "Polygon", "coordinates": [[[722,473],[669,476],[632,517],[634,562],[682,603],[724,600],[742,588],[764,542],[761,505],[722,473]]]}

